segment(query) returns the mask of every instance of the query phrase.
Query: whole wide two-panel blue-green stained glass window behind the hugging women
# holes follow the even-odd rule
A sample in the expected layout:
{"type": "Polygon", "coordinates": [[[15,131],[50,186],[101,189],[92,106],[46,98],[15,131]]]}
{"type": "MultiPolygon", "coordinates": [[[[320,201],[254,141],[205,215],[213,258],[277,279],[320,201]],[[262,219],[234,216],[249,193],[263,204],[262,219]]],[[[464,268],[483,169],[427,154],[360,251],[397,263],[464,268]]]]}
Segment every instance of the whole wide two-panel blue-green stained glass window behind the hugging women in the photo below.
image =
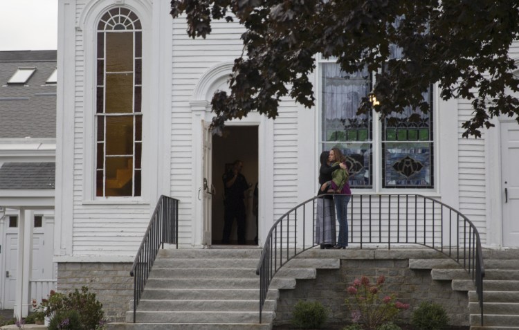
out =
{"type": "MultiPolygon", "coordinates": [[[[391,45],[390,52],[390,57],[399,58],[402,50],[391,45]]],[[[336,63],[320,64],[322,150],[338,147],[343,151],[352,188],[434,188],[432,86],[423,93],[427,113],[409,107],[375,125],[375,113],[356,113],[371,91],[371,78],[368,71],[347,74],[336,63]],[[417,120],[408,119],[412,114],[418,115],[413,116],[417,120]]]]}

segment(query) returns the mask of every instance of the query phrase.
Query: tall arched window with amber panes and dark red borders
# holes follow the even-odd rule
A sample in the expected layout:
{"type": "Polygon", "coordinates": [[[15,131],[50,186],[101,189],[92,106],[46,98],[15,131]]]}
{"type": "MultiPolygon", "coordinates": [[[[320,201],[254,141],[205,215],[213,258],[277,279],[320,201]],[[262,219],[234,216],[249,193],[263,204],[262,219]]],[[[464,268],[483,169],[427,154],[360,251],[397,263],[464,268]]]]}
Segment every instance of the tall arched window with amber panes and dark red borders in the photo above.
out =
{"type": "Polygon", "coordinates": [[[95,196],[140,196],[140,20],[127,8],[113,8],[101,17],[96,37],[95,196]]]}

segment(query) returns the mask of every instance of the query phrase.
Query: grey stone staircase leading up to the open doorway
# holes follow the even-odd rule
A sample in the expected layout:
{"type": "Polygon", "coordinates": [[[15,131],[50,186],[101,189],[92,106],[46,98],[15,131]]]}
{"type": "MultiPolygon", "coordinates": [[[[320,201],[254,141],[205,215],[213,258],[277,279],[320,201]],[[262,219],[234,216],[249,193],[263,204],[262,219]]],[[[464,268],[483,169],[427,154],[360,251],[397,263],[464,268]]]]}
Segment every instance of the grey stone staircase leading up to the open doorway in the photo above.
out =
{"type": "Polygon", "coordinates": [[[316,268],[339,268],[338,259],[292,259],[276,274],[259,323],[261,250],[161,250],[133,323],[133,301],[126,323],[110,330],[272,329],[279,289],[296,279],[316,278],[316,268]]]}

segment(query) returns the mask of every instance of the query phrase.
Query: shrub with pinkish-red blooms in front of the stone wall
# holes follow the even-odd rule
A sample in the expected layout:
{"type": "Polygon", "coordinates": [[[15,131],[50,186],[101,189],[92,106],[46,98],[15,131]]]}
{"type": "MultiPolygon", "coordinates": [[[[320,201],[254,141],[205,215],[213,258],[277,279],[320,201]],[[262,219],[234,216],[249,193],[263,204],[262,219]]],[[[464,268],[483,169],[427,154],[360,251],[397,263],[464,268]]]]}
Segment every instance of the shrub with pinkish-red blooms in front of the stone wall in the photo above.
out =
{"type": "Polygon", "coordinates": [[[384,295],[382,287],[385,282],[384,275],[379,276],[375,284],[363,276],[355,279],[352,286],[347,288],[351,297],[347,298],[346,304],[352,312],[354,323],[363,324],[366,330],[376,330],[382,324],[395,320],[398,314],[409,308],[395,300],[394,295],[384,295]]]}

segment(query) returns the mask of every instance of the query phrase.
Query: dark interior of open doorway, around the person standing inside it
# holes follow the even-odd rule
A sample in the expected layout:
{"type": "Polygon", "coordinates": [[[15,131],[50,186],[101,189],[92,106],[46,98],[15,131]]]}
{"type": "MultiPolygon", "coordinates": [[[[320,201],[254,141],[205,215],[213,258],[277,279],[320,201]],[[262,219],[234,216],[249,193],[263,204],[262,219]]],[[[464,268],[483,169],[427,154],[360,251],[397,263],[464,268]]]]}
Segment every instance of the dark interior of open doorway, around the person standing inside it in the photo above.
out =
{"type": "MultiPolygon", "coordinates": [[[[243,163],[242,174],[245,176],[251,190],[246,194],[246,245],[257,245],[257,217],[253,212],[254,187],[258,181],[258,127],[257,126],[226,126],[222,136],[212,137],[212,184],[215,195],[212,196],[212,244],[221,244],[224,231],[224,182],[222,176],[226,167],[236,160],[243,163]]],[[[237,244],[237,223],[234,221],[230,234],[230,244],[237,244]]]]}

